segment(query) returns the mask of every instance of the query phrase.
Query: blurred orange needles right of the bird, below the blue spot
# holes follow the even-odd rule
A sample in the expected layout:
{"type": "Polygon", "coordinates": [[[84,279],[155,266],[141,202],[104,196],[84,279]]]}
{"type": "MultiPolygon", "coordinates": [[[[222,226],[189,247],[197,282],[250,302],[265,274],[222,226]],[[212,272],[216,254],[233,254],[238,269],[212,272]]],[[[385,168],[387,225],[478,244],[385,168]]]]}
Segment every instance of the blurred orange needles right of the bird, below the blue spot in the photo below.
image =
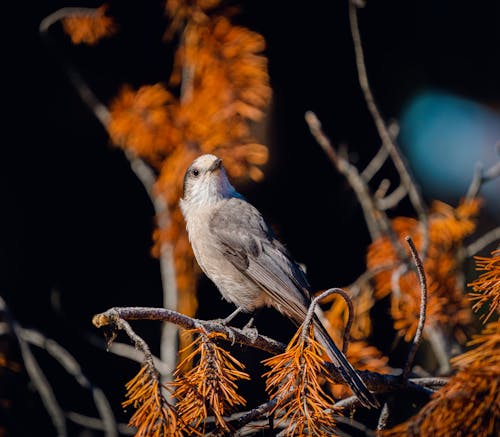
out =
{"type": "MultiPolygon", "coordinates": [[[[450,327],[458,340],[464,341],[461,329],[471,321],[471,311],[464,299],[457,264],[462,241],[475,230],[474,216],[480,201],[462,202],[457,208],[443,202],[434,202],[429,215],[429,246],[424,260],[428,283],[427,323],[450,327]]],[[[421,223],[408,217],[392,220],[394,233],[402,246],[410,236],[418,250],[423,244],[421,223]]],[[[396,248],[388,237],[383,237],[368,248],[368,269],[375,269],[399,260],[396,248]]],[[[406,341],[415,335],[420,308],[420,288],[413,272],[395,267],[375,275],[375,297],[391,294],[391,313],[394,326],[406,341]],[[398,277],[399,275],[399,277],[398,277]],[[393,289],[397,280],[400,292],[393,289]]]]}

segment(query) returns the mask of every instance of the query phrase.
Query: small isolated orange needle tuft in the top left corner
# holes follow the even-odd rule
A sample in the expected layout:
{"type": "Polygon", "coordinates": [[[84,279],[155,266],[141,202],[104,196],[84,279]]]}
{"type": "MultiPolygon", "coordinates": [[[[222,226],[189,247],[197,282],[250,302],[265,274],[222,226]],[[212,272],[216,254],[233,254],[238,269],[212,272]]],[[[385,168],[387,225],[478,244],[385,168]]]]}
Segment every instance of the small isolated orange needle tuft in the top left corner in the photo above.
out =
{"type": "Polygon", "coordinates": [[[116,32],[116,24],[106,15],[107,5],[102,5],[86,14],[73,15],[62,20],[64,31],[70,36],[73,44],[95,45],[102,38],[116,32]]]}

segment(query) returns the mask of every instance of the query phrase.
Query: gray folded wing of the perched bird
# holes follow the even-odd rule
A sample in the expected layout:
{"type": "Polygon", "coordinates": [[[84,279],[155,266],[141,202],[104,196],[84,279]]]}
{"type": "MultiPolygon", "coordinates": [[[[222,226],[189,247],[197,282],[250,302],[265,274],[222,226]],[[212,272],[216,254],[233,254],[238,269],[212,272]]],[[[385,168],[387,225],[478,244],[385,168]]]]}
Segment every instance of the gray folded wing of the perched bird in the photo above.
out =
{"type": "Polygon", "coordinates": [[[309,284],[259,211],[243,199],[227,199],[209,226],[221,255],[267,292],[278,310],[300,323],[307,312],[309,284]]]}

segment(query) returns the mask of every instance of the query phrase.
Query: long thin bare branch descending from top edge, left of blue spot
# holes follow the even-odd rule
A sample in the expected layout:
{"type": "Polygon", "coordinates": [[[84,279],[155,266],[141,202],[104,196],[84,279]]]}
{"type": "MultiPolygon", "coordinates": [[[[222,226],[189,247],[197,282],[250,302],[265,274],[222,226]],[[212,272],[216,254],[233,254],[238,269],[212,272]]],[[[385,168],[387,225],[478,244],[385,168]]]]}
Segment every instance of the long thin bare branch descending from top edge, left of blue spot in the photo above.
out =
{"type": "Polygon", "coordinates": [[[375,103],[375,98],[373,97],[373,93],[370,88],[370,84],[368,82],[368,74],[366,72],[365,59],[363,54],[363,46],[361,43],[361,35],[359,32],[358,26],[358,15],[357,15],[357,2],[353,0],[349,1],[349,22],[351,24],[351,35],[354,44],[354,52],[356,56],[356,67],[358,71],[358,80],[361,90],[363,91],[363,95],[365,97],[366,105],[368,110],[375,122],[375,126],[379,133],[380,139],[382,140],[382,145],[387,149],[391,159],[396,167],[400,177],[401,182],[408,191],[408,196],[410,201],[417,212],[418,218],[422,223],[423,233],[424,233],[424,244],[423,244],[423,253],[427,252],[428,246],[428,230],[427,230],[427,208],[424,205],[422,200],[422,195],[416,183],[414,182],[412,176],[410,175],[410,171],[408,169],[405,160],[396,146],[395,142],[392,139],[392,136],[389,132],[389,129],[380,114],[380,111],[375,103]]]}

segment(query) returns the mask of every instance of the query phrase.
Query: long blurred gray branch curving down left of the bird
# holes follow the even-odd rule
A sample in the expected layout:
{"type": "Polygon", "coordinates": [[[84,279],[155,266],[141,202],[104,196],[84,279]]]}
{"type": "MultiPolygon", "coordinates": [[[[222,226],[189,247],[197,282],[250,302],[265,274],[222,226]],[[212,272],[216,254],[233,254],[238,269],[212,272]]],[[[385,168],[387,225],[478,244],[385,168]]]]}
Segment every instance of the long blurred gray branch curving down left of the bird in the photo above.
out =
{"type": "MultiPolygon", "coordinates": [[[[39,26],[39,32],[47,46],[56,50],[55,44],[50,40],[50,27],[64,19],[75,16],[87,16],[89,14],[98,14],[99,8],[61,8],[44,18],[39,26]]],[[[101,125],[109,131],[111,121],[110,111],[95,95],[92,88],[87,84],[78,70],[61,54],[57,53],[61,64],[66,71],[69,81],[76,90],[83,103],[92,111],[101,125]]],[[[135,173],[147,192],[151,203],[153,204],[156,217],[158,217],[158,226],[167,227],[170,223],[170,212],[165,199],[154,193],[153,187],[156,182],[156,175],[153,169],[142,159],[134,155],[129,150],[124,154],[130,163],[130,168],[135,173]]],[[[163,289],[163,306],[166,308],[177,308],[177,285],[175,281],[175,263],[173,247],[167,242],[163,242],[160,248],[160,274],[163,289]]],[[[160,340],[160,356],[168,368],[174,369],[177,357],[177,335],[178,330],[175,325],[164,325],[160,340]]],[[[168,375],[166,379],[170,379],[168,375]]]]}

